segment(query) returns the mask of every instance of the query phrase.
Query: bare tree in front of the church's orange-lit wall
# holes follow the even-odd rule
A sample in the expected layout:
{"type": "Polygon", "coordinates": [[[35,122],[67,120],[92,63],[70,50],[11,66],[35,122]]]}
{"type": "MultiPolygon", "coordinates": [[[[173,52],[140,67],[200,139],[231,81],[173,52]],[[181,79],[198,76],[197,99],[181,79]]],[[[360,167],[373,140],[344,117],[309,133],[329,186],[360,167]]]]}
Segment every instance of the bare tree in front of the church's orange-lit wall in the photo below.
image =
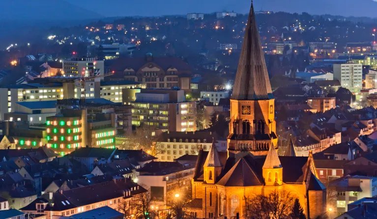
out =
{"type": "Polygon", "coordinates": [[[295,198],[284,189],[275,189],[267,196],[248,198],[246,217],[254,219],[289,219],[295,198]]]}

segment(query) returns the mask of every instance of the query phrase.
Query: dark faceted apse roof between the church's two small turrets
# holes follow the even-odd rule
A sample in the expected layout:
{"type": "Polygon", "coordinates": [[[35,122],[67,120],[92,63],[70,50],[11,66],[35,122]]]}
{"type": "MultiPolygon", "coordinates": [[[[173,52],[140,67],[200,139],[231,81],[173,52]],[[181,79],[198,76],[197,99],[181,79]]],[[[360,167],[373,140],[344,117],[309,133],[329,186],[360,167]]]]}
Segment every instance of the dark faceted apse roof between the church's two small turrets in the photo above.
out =
{"type": "MultiPolygon", "coordinates": [[[[262,186],[263,177],[256,166],[258,168],[258,163],[251,156],[242,157],[217,184],[228,187],[262,186]]],[[[258,169],[261,170],[261,167],[258,169]]]]}

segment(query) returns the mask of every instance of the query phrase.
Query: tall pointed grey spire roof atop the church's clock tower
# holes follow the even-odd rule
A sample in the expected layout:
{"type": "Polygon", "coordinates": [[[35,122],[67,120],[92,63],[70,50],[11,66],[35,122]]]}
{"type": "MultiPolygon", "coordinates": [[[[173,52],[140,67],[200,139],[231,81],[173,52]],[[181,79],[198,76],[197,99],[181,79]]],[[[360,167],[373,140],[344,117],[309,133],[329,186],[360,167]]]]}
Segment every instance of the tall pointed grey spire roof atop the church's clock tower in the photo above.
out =
{"type": "Polygon", "coordinates": [[[232,99],[273,99],[253,2],[242,44],[232,99]]]}

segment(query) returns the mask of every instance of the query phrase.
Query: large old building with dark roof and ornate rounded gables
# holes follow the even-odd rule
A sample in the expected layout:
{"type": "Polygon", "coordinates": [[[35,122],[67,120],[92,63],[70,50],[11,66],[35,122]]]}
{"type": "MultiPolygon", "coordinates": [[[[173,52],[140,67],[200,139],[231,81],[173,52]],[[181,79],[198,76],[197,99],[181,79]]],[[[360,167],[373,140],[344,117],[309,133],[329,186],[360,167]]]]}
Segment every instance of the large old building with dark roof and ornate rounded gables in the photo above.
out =
{"type": "Polygon", "coordinates": [[[146,84],[146,88],[178,87],[191,91],[191,67],[177,57],[120,58],[111,66],[109,80],[127,80],[146,84]]]}

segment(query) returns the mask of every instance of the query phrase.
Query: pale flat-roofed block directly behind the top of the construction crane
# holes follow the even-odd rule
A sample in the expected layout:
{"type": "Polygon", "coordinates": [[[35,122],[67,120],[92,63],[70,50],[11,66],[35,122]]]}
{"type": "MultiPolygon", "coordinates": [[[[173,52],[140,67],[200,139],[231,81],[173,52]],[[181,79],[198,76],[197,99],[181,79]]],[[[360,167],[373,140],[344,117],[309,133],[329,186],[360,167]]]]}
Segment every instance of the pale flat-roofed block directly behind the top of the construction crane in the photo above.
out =
{"type": "Polygon", "coordinates": [[[105,65],[103,60],[93,57],[72,57],[69,60],[63,60],[63,75],[81,76],[81,75],[104,75],[105,65]]]}

